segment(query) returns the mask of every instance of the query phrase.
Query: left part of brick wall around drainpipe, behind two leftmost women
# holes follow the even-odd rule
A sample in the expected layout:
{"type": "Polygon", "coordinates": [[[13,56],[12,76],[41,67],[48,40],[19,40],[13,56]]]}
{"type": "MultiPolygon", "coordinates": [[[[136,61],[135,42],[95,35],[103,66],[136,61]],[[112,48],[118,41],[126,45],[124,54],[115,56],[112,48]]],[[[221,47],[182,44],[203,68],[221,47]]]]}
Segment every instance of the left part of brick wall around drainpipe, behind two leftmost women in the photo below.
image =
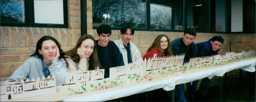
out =
{"type": "MultiPolygon", "coordinates": [[[[92,12],[91,0],[87,1],[87,6],[92,12]]],[[[68,28],[0,26],[0,81],[10,77],[34,53],[36,42],[44,35],[56,38],[63,51],[73,48],[81,35],[80,13],[80,0],[68,0],[68,28]]],[[[92,19],[92,14],[88,14],[90,12],[87,17],[92,19]]],[[[88,29],[92,29],[92,20],[91,26],[88,24],[88,29]]]]}

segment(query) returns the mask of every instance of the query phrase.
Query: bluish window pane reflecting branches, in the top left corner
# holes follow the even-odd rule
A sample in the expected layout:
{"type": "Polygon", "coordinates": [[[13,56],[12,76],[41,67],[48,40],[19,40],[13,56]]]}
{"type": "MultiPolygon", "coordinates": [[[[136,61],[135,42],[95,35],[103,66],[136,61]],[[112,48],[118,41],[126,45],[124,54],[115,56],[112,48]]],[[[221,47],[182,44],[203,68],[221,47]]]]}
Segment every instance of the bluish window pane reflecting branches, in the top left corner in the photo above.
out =
{"type": "Polygon", "coordinates": [[[1,0],[1,22],[25,23],[24,0],[1,0]]]}

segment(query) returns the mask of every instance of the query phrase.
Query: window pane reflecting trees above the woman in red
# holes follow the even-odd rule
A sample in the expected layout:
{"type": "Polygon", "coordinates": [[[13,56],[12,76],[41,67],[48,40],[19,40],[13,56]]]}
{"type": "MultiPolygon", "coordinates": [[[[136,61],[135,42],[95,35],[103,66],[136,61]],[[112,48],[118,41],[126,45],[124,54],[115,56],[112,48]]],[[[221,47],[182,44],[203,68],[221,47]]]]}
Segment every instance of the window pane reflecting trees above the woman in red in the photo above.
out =
{"type": "Polygon", "coordinates": [[[150,26],[152,29],[182,30],[183,1],[151,0],[150,26]]]}

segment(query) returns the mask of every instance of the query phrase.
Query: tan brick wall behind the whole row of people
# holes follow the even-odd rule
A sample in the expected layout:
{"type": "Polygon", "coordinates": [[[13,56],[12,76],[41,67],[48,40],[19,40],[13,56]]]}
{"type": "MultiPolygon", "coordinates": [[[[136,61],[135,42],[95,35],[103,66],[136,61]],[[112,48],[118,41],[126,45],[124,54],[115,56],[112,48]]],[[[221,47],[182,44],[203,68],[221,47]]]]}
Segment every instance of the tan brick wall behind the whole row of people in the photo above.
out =
{"type": "MultiPolygon", "coordinates": [[[[92,29],[92,1],[87,0],[87,33],[96,37],[92,29]]],[[[170,40],[182,37],[183,32],[135,31],[132,42],[136,44],[143,57],[157,35],[166,34],[170,40]]],[[[68,0],[68,28],[43,27],[4,27],[0,26],[0,81],[10,77],[15,69],[26,61],[35,51],[36,42],[44,35],[58,40],[63,51],[73,48],[81,35],[80,0],[68,0]]],[[[220,35],[224,43],[219,54],[231,51],[255,50],[255,34],[197,33],[195,43],[220,35]]],[[[120,38],[120,30],[112,30],[111,40],[120,38]]]]}

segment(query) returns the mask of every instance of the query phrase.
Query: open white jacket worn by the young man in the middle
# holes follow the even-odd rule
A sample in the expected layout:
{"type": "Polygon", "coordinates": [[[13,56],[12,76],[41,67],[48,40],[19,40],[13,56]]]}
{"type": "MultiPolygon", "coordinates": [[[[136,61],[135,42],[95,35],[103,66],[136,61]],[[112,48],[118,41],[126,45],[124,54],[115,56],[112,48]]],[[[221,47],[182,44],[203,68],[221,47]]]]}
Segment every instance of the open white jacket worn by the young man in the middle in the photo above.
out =
{"type": "MultiPolygon", "coordinates": [[[[122,55],[123,55],[123,59],[124,59],[124,65],[128,65],[128,59],[127,59],[127,51],[124,48],[124,44],[122,41],[122,37],[118,40],[114,41],[116,43],[116,46],[119,48],[119,50],[121,51],[122,55]]],[[[137,48],[137,46],[132,43],[130,43],[130,50],[131,50],[131,57],[132,57],[132,63],[136,62],[136,61],[143,61],[140,55],[140,51],[137,48]]]]}

